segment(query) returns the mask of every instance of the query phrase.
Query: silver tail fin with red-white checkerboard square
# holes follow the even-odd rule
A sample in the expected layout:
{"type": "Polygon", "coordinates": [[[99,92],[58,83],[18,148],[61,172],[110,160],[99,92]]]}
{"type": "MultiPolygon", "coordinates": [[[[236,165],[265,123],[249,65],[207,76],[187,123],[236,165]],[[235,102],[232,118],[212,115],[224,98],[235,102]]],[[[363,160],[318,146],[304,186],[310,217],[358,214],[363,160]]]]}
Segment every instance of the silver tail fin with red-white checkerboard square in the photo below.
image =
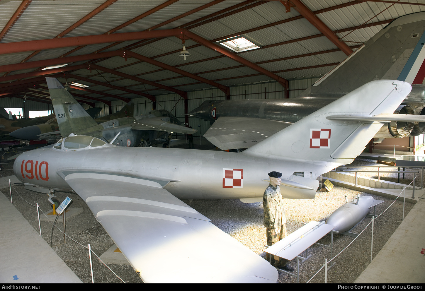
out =
{"type": "Polygon", "coordinates": [[[370,117],[394,112],[410,90],[411,85],[401,81],[369,82],[248,148],[243,154],[314,164],[321,161],[330,167],[345,164],[357,157],[381,128],[383,122],[376,120],[382,118],[370,117]],[[350,120],[341,115],[365,118],[350,120]]]}

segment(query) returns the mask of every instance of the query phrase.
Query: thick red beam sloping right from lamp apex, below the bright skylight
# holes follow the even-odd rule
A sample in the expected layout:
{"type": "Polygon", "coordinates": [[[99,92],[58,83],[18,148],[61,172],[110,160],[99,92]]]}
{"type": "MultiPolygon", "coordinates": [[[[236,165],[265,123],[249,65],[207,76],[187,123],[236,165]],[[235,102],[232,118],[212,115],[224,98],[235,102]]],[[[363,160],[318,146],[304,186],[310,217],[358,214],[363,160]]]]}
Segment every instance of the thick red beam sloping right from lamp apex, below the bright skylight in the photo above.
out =
{"type": "Polygon", "coordinates": [[[221,54],[229,57],[230,59],[233,59],[236,62],[239,62],[239,63],[245,65],[246,67],[249,67],[249,68],[251,68],[253,70],[256,70],[257,72],[260,72],[263,75],[266,75],[269,78],[272,78],[272,79],[278,81],[284,88],[286,88],[286,82],[287,82],[286,79],[284,79],[282,77],[279,77],[278,75],[276,75],[276,74],[274,74],[274,73],[272,73],[272,72],[264,69],[263,67],[260,67],[260,66],[258,66],[256,64],[252,63],[252,62],[249,62],[248,60],[242,58],[241,56],[238,56],[235,53],[229,52],[228,50],[226,50],[221,45],[218,45],[218,44],[215,44],[213,42],[210,42],[209,40],[204,39],[203,37],[198,36],[197,34],[194,34],[191,31],[184,30],[184,35],[187,36],[187,37],[189,37],[189,38],[191,38],[191,39],[193,39],[195,42],[198,42],[199,44],[204,45],[207,48],[210,48],[211,50],[215,50],[218,53],[221,53],[221,54]]]}

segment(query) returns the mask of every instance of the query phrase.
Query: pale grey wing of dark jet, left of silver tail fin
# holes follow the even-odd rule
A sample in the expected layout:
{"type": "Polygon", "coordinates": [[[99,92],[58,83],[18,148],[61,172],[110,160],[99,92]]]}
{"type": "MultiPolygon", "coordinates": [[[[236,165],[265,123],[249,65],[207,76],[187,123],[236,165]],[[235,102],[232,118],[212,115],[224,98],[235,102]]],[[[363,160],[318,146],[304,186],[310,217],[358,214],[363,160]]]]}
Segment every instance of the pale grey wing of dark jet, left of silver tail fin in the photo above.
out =
{"type": "Polygon", "coordinates": [[[262,118],[220,117],[204,137],[222,150],[249,148],[291,124],[262,118]]]}

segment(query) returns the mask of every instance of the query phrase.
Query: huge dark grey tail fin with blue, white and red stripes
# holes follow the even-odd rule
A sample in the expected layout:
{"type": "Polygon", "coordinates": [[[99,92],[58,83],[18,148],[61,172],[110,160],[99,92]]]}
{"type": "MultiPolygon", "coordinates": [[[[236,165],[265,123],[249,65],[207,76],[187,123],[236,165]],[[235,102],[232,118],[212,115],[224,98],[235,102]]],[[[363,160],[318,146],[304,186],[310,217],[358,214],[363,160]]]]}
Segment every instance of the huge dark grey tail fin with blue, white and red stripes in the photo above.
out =
{"type": "Polygon", "coordinates": [[[397,18],[299,97],[351,92],[373,80],[422,84],[425,78],[425,11],[397,18]]]}

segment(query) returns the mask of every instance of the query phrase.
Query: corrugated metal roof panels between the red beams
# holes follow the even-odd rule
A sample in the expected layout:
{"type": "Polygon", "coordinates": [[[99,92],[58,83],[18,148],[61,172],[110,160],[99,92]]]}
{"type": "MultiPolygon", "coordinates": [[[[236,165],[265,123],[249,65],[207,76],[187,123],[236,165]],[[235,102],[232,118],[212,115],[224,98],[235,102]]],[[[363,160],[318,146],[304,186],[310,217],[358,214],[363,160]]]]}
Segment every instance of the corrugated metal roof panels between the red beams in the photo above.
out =
{"type": "MultiPolygon", "coordinates": [[[[132,20],[134,17],[137,17],[150,9],[156,8],[165,2],[166,0],[117,0],[112,5],[95,14],[93,17],[88,18],[81,25],[69,31],[65,37],[105,34],[107,31],[132,20]]],[[[266,3],[252,1],[245,3],[243,0],[225,0],[208,8],[198,9],[199,7],[211,2],[211,0],[179,0],[165,8],[158,9],[158,11],[142,18],[141,20],[133,22],[130,25],[115,31],[114,34],[144,31],[155,25],[160,25],[162,22],[170,20],[173,17],[176,17],[177,20],[166,25],[160,25],[156,29],[162,30],[176,28],[178,26],[184,26],[189,22],[198,23],[198,26],[193,26],[190,28],[190,31],[207,40],[221,39],[225,36],[237,35],[246,30],[251,30],[249,32],[245,32],[245,35],[259,42],[263,48],[246,53],[239,53],[238,56],[252,63],[265,62],[259,64],[259,66],[271,72],[288,70],[277,73],[278,76],[287,79],[323,75],[332,68],[330,64],[341,62],[346,57],[346,55],[340,50],[326,53],[327,50],[334,50],[337,49],[337,47],[325,36],[314,37],[320,34],[320,31],[302,17],[297,20],[276,24],[276,22],[289,20],[300,15],[295,8],[291,8],[291,11],[286,13],[285,7],[279,1],[268,1],[266,3]],[[261,4],[258,5],[258,3],[261,4]],[[235,5],[238,7],[234,8],[233,6],[235,5]],[[195,9],[194,13],[185,17],[179,17],[193,9],[195,9]],[[210,14],[213,13],[216,14],[210,16],[210,14]],[[312,36],[312,38],[294,41],[295,39],[308,36],[312,36]],[[276,45],[281,42],[288,43],[276,45]],[[299,57],[300,55],[310,53],[319,54],[299,57]],[[280,58],[290,59],[278,60],[280,58]],[[270,60],[275,61],[267,62],[270,60]],[[314,67],[318,65],[323,67],[314,67]],[[305,67],[311,68],[305,69],[305,67]]],[[[410,0],[410,2],[422,3],[419,0],[410,0]]],[[[0,14],[0,30],[3,29],[6,23],[10,20],[20,3],[20,1],[0,2],[0,10],[2,11],[0,14]]],[[[32,1],[28,8],[26,8],[26,10],[22,13],[20,18],[4,35],[0,43],[28,41],[34,39],[52,39],[91,13],[91,11],[101,6],[103,3],[105,3],[104,0],[32,1]]],[[[328,25],[331,30],[334,31],[362,25],[364,22],[368,21],[391,5],[391,3],[377,2],[363,2],[348,5],[352,4],[348,0],[303,0],[303,3],[305,3],[305,5],[312,11],[329,8],[327,11],[322,11],[316,15],[326,25],[328,25]],[[334,6],[342,4],[346,4],[348,6],[334,9],[334,6]]],[[[368,23],[390,20],[418,11],[425,11],[425,6],[395,4],[382,14],[374,17],[368,23]]],[[[385,25],[386,24],[381,24],[359,28],[351,33],[348,30],[346,32],[337,33],[337,36],[343,37],[343,40],[347,41],[346,43],[348,45],[358,45],[358,42],[365,42],[370,39],[385,25]]],[[[133,52],[142,56],[149,58],[156,57],[154,58],[155,61],[177,67],[178,69],[188,73],[199,74],[200,77],[208,80],[220,80],[218,83],[226,86],[236,86],[238,84],[272,80],[270,77],[264,75],[249,76],[259,73],[247,66],[228,69],[229,67],[240,66],[241,63],[227,56],[222,56],[221,53],[214,49],[198,45],[198,43],[192,39],[187,39],[185,41],[185,45],[191,54],[190,56],[187,56],[186,61],[183,60],[183,57],[178,56],[179,51],[182,50],[181,39],[177,37],[167,37],[156,39],[155,41],[144,40],[142,42],[125,41],[120,43],[110,42],[92,44],[86,45],[71,53],[71,50],[78,46],[78,43],[75,43],[75,46],[73,47],[42,50],[26,62],[55,59],[62,55],[81,56],[94,53],[96,51],[106,52],[132,48],[133,52]],[[136,46],[134,46],[135,43],[137,43],[136,46]],[[192,48],[192,46],[194,47],[192,48]],[[202,61],[204,59],[210,60],[202,61]],[[215,72],[209,72],[210,70],[215,70],[215,72]]],[[[32,52],[33,51],[10,53],[7,55],[0,54],[0,66],[7,64],[19,64],[31,55],[32,52]]],[[[108,92],[109,94],[119,94],[123,97],[131,96],[133,93],[116,90],[108,87],[108,85],[113,84],[119,87],[128,87],[131,90],[140,90],[150,95],[164,94],[164,92],[174,90],[172,88],[183,91],[192,91],[211,87],[211,85],[199,83],[199,81],[194,80],[189,76],[181,76],[178,72],[165,70],[157,65],[141,62],[131,57],[129,57],[127,61],[124,58],[117,56],[108,59],[101,59],[100,61],[96,59],[77,61],[73,64],[83,63],[94,63],[131,76],[139,76],[139,78],[142,79],[158,81],[160,84],[166,84],[171,87],[169,88],[169,91],[167,91],[163,88],[142,84],[135,80],[128,80],[111,73],[100,72],[99,70],[92,70],[90,72],[89,70],[81,69],[72,72],[74,75],[80,75],[84,78],[93,78],[94,80],[105,83],[105,85],[102,86],[91,86],[93,90],[100,90],[105,93],[108,92]]],[[[32,73],[36,69],[37,68],[26,68],[22,70],[14,70],[7,75],[11,76],[14,74],[28,73],[30,75],[28,79],[31,80],[31,78],[38,76],[35,73],[32,73]]],[[[2,77],[0,77],[0,84],[13,81],[10,80],[10,77],[8,77],[7,81],[2,81],[1,78],[2,77]]],[[[23,85],[23,88],[24,87],[25,84],[23,85]]],[[[83,92],[82,95],[84,94],[92,97],[95,97],[96,95],[90,92],[83,92]]],[[[105,100],[111,99],[113,98],[105,98],[105,100]]]]}

